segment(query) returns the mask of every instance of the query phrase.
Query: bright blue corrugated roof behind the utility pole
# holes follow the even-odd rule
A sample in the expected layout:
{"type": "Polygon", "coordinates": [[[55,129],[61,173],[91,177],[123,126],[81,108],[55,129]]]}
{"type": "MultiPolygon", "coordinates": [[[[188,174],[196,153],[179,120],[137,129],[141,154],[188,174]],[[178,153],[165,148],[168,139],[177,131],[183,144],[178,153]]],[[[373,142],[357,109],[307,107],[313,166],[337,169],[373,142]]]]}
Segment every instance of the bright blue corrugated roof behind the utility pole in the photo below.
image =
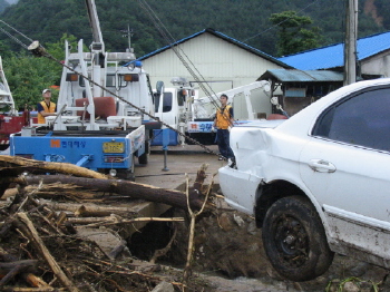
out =
{"type": "MultiPolygon", "coordinates": [[[[357,41],[358,60],[367,59],[390,49],[390,31],[361,38],[357,41]]],[[[279,58],[296,69],[316,70],[341,67],[344,64],[344,45],[338,43],[279,58]]]]}

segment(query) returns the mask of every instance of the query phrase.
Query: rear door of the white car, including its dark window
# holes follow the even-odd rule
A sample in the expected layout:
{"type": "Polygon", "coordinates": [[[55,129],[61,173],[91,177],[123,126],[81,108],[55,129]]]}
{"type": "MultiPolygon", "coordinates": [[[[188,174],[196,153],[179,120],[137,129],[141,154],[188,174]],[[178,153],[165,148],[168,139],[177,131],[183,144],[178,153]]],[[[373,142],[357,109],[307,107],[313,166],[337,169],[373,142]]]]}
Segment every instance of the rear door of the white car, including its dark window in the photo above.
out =
{"type": "Polygon", "coordinates": [[[331,105],[300,156],[301,178],[320,203],[333,250],[390,260],[390,88],[331,105]]]}

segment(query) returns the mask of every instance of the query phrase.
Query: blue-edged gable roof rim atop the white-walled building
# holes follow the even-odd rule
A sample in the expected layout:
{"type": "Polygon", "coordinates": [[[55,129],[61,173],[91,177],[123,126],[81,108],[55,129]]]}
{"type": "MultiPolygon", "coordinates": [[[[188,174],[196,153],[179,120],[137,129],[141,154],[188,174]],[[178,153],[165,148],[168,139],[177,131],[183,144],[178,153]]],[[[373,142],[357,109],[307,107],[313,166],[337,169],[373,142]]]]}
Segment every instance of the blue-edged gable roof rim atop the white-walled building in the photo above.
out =
{"type": "Polygon", "coordinates": [[[155,51],[152,51],[152,52],[149,52],[149,53],[147,53],[147,55],[145,55],[145,56],[138,58],[138,60],[145,60],[145,59],[147,59],[147,58],[150,58],[150,57],[153,57],[153,56],[155,56],[155,55],[157,55],[157,53],[160,53],[160,52],[163,52],[163,51],[165,51],[165,50],[167,50],[167,49],[170,49],[173,46],[177,46],[177,45],[179,45],[179,43],[182,43],[182,42],[185,42],[185,41],[187,41],[187,40],[189,40],[189,39],[193,39],[193,38],[199,36],[199,35],[202,35],[202,33],[205,33],[205,32],[212,33],[212,35],[214,35],[214,36],[217,37],[217,38],[224,39],[225,41],[228,41],[228,42],[231,42],[231,43],[233,43],[233,45],[236,45],[236,46],[241,47],[242,49],[247,50],[247,51],[250,51],[250,52],[252,52],[252,53],[255,53],[255,55],[257,55],[257,56],[260,56],[260,57],[262,57],[262,58],[264,58],[264,59],[266,59],[266,60],[270,60],[270,61],[272,61],[272,62],[274,62],[274,64],[277,64],[279,66],[281,66],[281,67],[283,67],[283,68],[291,68],[291,66],[289,66],[289,65],[284,64],[284,62],[280,61],[277,58],[274,58],[274,57],[272,57],[271,55],[267,55],[267,53],[265,53],[265,52],[263,52],[263,51],[261,51],[261,50],[257,50],[257,49],[255,49],[255,48],[253,48],[253,47],[251,47],[251,46],[248,46],[248,45],[246,45],[246,43],[244,43],[244,42],[242,42],[242,41],[238,41],[238,40],[236,40],[236,39],[233,39],[233,38],[231,38],[231,37],[227,37],[226,35],[224,35],[224,33],[222,33],[222,32],[220,32],[220,31],[216,31],[216,30],[214,30],[214,29],[211,29],[211,28],[204,29],[204,30],[202,30],[202,31],[199,31],[199,32],[196,32],[196,33],[194,33],[194,35],[192,35],[192,36],[189,36],[189,37],[187,37],[187,38],[181,39],[181,40],[174,42],[173,45],[165,46],[165,47],[163,47],[163,48],[160,48],[160,49],[157,49],[157,50],[155,50],[155,51]]]}

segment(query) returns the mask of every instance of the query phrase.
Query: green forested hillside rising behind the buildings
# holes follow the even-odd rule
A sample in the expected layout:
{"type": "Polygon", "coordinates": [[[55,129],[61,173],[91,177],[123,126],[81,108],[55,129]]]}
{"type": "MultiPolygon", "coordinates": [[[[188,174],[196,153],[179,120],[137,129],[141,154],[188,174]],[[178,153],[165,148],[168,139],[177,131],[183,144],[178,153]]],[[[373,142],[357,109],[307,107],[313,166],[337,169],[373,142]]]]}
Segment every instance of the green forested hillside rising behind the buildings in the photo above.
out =
{"type": "MultiPolygon", "coordinates": [[[[275,55],[277,27],[270,21],[272,13],[286,10],[309,16],[321,29],[321,46],[343,41],[344,3],[347,0],[95,0],[106,47],[124,50],[127,39],[120,30],[134,30],[131,43],[137,56],[167,45],[147,17],[140,2],[146,2],[175,39],[205,28],[213,28],[275,55]]],[[[1,0],[0,0],[1,7],[1,0]]],[[[390,1],[359,1],[359,36],[390,29],[390,1]]],[[[1,19],[41,43],[56,42],[62,33],[75,35],[90,42],[91,32],[85,1],[20,0],[8,7],[1,19]]],[[[1,33],[0,40],[8,41],[1,33]]],[[[13,49],[17,49],[12,45],[13,49]]]]}

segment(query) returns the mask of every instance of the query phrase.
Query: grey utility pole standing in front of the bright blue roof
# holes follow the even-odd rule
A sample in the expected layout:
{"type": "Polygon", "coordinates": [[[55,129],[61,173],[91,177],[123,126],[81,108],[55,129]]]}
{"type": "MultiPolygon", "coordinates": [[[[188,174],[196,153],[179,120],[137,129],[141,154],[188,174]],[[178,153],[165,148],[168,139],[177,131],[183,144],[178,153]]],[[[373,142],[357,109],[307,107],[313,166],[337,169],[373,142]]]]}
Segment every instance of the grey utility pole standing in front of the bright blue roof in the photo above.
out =
{"type": "Polygon", "coordinates": [[[344,85],[349,85],[357,81],[358,0],[347,0],[345,19],[344,85]]]}

